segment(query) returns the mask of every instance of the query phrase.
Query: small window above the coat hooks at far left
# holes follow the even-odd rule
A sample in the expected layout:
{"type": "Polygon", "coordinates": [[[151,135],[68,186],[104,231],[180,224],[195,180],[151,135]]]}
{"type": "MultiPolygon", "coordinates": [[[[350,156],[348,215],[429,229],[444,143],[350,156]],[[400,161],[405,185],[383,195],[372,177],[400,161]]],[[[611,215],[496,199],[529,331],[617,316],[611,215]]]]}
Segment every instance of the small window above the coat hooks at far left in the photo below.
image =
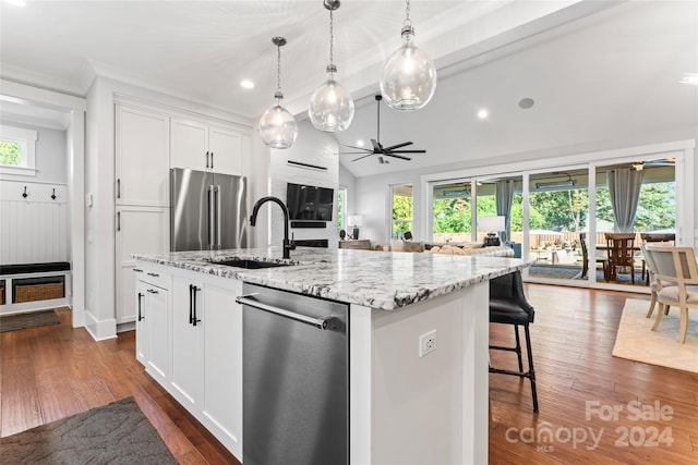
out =
{"type": "Polygon", "coordinates": [[[37,132],[0,125],[0,173],[36,174],[37,132]]]}

